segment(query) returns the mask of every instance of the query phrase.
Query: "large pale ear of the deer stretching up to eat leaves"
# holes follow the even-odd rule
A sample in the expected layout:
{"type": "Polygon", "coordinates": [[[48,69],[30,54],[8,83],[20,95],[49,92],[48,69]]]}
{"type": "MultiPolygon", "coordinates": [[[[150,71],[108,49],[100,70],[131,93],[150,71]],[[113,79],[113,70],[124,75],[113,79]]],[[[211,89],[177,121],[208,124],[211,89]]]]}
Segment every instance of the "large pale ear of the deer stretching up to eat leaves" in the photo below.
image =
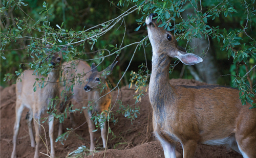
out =
{"type": "Polygon", "coordinates": [[[186,53],[181,50],[177,51],[177,55],[175,56],[175,58],[179,58],[179,60],[186,65],[195,65],[203,61],[203,59],[199,56],[191,53],[186,53]]]}

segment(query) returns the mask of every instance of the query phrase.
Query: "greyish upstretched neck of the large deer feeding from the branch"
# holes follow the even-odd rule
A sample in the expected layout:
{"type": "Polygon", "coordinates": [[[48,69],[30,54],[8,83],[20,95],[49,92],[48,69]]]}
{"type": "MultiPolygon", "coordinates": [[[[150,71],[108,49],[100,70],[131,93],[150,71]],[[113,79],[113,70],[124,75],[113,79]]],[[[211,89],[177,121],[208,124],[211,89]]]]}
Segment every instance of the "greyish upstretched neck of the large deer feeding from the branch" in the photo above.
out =
{"type": "Polygon", "coordinates": [[[172,104],[175,98],[174,87],[169,84],[170,60],[171,58],[166,54],[156,53],[153,49],[149,97],[154,112],[162,118],[164,118],[165,113],[164,106],[172,104]]]}

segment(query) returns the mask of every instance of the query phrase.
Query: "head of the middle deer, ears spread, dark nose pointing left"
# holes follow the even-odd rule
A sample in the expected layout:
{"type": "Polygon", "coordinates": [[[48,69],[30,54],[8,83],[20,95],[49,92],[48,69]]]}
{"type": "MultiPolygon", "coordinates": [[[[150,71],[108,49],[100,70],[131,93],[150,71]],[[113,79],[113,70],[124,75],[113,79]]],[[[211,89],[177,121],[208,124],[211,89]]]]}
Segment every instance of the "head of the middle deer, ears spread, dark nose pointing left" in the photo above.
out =
{"type": "Polygon", "coordinates": [[[102,85],[104,85],[106,82],[106,77],[113,72],[113,68],[115,67],[116,63],[117,62],[100,72],[93,63],[91,67],[92,74],[89,76],[88,83],[86,86],[84,86],[84,90],[86,92],[100,90],[102,85]]]}

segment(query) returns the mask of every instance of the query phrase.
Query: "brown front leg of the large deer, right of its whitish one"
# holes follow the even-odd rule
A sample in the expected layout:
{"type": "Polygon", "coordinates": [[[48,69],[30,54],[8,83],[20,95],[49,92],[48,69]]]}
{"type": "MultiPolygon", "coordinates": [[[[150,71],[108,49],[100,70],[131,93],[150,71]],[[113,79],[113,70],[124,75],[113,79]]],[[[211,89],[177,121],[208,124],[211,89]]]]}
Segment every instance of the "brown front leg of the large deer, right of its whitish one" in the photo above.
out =
{"type": "Polygon", "coordinates": [[[188,140],[185,143],[182,143],[182,148],[183,158],[194,157],[197,148],[197,142],[194,140],[188,140]]]}

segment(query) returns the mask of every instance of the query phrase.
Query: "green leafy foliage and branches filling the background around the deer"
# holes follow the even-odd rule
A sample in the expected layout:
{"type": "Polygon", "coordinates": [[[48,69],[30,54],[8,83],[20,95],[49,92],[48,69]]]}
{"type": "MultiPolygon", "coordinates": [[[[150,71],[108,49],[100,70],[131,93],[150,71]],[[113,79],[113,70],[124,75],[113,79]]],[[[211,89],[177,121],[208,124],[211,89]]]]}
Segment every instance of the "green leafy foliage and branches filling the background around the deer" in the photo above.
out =
{"type": "MultiPolygon", "coordinates": [[[[63,3],[52,0],[47,2],[2,1],[0,50],[1,76],[4,77],[4,81],[15,83],[16,77],[22,75],[25,69],[34,69],[36,76],[38,74],[46,76],[51,71],[51,65],[47,62],[50,56],[46,54],[47,51],[51,53],[61,51],[66,61],[78,59],[89,64],[95,62],[99,69],[118,60],[118,73],[111,77],[116,83],[111,83],[115,85],[113,89],[116,90],[118,86],[124,85],[123,82],[128,84],[126,78],[131,76],[130,87],[135,86],[137,95],[134,97],[137,103],[147,92],[150,76],[147,59],[151,58],[151,53],[146,52],[151,52],[151,47],[148,46],[150,43],[147,43],[144,31],[145,19],[150,13],[157,13],[158,21],[162,20],[160,27],[172,31],[179,43],[185,47],[193,38],[205,38],[209,41],[208,48],[211,46],[210,43],[213,43],[217,56],[221,56],[222,60],[225,58],[226,63],[231,59],[232,65],[227,75],[230,75],[232,86],[240,90],[242,104],[248,102],[252,108],[256,108],[256,41],[252,38],[255,37],[252,30],[255,29],[256,23],[254,1],[86,0],[63,3]],[[110,6],[111,11],[106,6],[110,6]],[[193,10],[193,13],[184,17],[182,12],[186,10],[193,10]],[[134,24],[135,21],[137,24],[134,24]],[[46,46],[47,44],[50,47],[46,46]],[[63,47],[66,49],[61,49],[63,47]],[[144,50],[144,53],[136,54],[141,50],[144,50]],[[133,62],[139,63],[139,69],[133,62]]],[[[191,51],[193,49],[189,50],[191,51]]],[[[207,56],[207,51],[202,52],[202,56],[207,56]]],[[[170,72],[178,63],[175,61],[170,67],[170,72]]],[[[73,77],[73,80],[69,81],[72,82],[72,86],[65,91],[72,90],[77,80],[82,83],[80,76],[73,77]]],[[[66,82],[61,81],[61,84],[66,82]]],[[[44,81],[44,78],[36,77],[34,91],[46,85],[47,81],[44,81]]],[[[53,99],[50,106],[55,107],[53,104],[58,101],[59,98],[53,99]]],[[[118,103],[118,113],[122,113],[131,121],[139,114],[139,107],[124,106],[121,101],[118,103]]],[[[63,122],[67,113],[81,112],[86,108],[90,106],[73,111],[69,108],[62,114],[55,108],[50,113],[63,122]]],[[[102,120],[109,121],[114,118],[111,110],[107,118],[100,118],[100,115],[94,114],[94,123],[101,127],[102,120]]],[[[113,119],[113,122],[116,123],[117,120],[113,119]]],[[[65,140],[73,130],[69,129],[57,141],[65,140]]],[[[109,133],[112,133],[110,128],[109,133]]]]}

